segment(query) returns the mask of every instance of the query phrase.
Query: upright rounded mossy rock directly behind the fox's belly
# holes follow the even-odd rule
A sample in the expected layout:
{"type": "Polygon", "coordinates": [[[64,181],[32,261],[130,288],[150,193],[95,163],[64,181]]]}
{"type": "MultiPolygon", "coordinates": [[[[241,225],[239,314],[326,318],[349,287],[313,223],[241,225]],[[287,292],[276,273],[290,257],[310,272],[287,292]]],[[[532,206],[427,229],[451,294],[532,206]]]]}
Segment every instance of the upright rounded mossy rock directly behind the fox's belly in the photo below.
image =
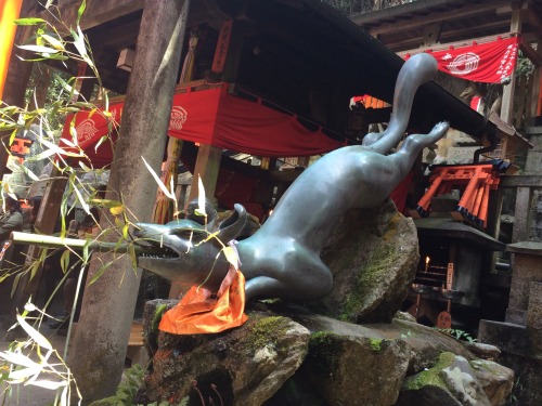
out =
{"type": "Polygon", "coordinates": [[[351,323],[388,323],[416,274],[416,227],[389,199],[374,209],[350,210],[321,258],[333,273],[333,290],[313,309],[351,323]]]}

